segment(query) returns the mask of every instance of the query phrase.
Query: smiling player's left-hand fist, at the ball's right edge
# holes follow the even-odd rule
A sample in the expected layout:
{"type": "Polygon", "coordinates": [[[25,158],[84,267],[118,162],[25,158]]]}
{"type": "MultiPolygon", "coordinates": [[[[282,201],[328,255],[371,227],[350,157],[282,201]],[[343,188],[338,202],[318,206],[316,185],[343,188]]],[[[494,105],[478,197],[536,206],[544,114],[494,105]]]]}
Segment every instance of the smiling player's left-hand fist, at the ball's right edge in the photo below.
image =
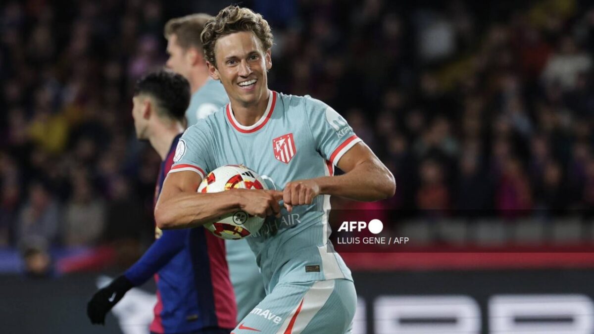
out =
{"type": "Polygon", "coordinates": [[[261,218],[280,217],[279,201],[283,198],[282,191],[247,189],[233,189],[232,191],[241,196],[239,206],[249,215],[261,218]]]}

